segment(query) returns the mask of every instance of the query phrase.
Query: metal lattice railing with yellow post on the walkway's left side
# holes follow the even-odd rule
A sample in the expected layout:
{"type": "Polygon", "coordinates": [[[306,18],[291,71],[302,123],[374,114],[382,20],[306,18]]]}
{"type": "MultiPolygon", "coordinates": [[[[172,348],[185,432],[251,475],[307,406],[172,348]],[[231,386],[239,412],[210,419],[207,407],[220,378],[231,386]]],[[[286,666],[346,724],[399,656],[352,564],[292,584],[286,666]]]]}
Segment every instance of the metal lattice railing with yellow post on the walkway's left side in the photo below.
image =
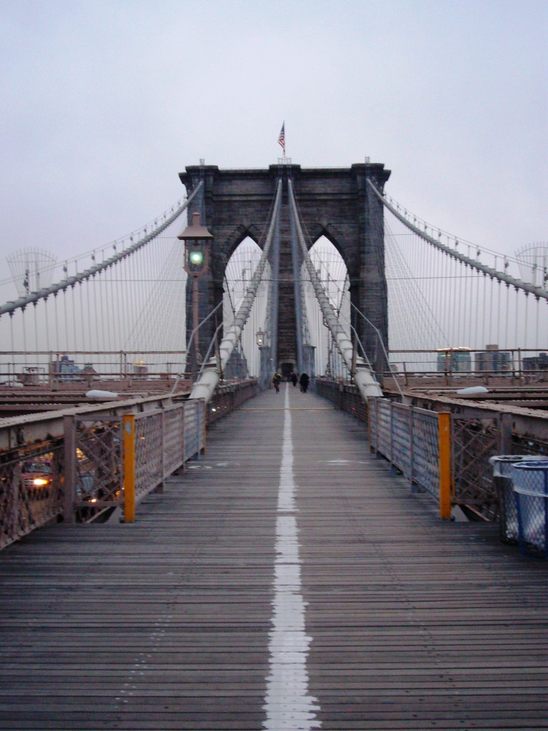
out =
{"type": "Polygon", "coordinates": [[[115,508],[134,520],[145,495],[204,450],[208,424],[256,388],[221,385],[216,412],[166,395],[0,420],[0,548],[52,521],[104,520],[115,508]]]}

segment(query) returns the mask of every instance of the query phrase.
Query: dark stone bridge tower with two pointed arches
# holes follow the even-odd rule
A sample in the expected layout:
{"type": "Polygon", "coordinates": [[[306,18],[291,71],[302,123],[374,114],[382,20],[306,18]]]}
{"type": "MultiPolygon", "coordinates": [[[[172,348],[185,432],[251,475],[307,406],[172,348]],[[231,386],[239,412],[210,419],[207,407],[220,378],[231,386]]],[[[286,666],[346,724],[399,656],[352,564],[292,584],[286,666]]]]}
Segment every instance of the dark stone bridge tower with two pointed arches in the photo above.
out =
{"type": "MultiPolygon", "coordinates": [[[[373,322],[382,333],[384,343],[388,344],[382,203],[366,182],[367,178],[371,178],[383,189],[390,175],[383,164],[308,169],[283,164],[270,165],[267,170],[220,170],[216,165],[186,167],[186,172],[180,173],[179,177],[187,192],[197,185],[200,178],[204,179],[205,221],[202,218],[202,224],[215,236],[210,274],[199,279],[200,320],[222,300],[224,271],[238,244],[249,237],[259,246],[263,245],[280,175],[284,185],[280,229],[278,363],[275,365],[281,368],[283,363],[297,363],[289,205],[285,184],[288,176],[293,181],[303,230],[311,237],[308,245],[312,246],[325,236],[338,249],[349,272],[351,302],[373,322]]],[[[189,206],[189,220],[197,207],[201,208],[199,200],[189,206]]],[[[380,364],[382,356],[372,328],[361,317],[355,320],[354,315],[352,317],[371,363],[380,364]]],[[[188,300],[187,322],[191,322],[188,300]]],[[[210,342],[214,327],[212,323],[205,330],[202,341],[210,342]]]]}

